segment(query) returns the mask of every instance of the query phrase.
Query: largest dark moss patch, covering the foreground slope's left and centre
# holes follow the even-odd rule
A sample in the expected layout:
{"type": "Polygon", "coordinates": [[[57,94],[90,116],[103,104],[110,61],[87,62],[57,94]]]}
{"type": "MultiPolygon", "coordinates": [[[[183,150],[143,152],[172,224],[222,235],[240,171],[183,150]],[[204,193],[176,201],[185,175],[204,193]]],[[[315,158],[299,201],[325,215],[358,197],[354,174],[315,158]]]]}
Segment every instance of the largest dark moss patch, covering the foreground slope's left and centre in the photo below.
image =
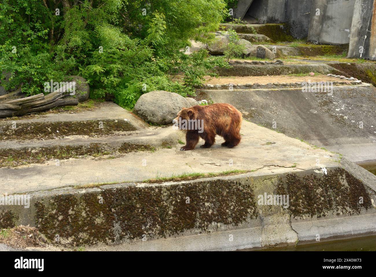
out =
{"type": "Polygon", "coordinates": [[[238,225],[257,216],[252,187],[224,180],[56,195],[35,208],[39,231],[78,245],[208,231],[212,222],[238,225]]]}

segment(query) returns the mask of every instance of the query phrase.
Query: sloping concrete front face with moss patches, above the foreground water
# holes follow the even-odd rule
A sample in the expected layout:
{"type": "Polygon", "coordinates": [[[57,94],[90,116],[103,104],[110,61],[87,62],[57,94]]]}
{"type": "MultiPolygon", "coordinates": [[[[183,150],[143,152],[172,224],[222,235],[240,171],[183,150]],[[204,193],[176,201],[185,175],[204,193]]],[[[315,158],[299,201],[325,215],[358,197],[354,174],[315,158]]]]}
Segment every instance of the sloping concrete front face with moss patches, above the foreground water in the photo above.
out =
{"type": "Polygon", "coordinates": [[[0,206],[0,227],[30,224],[53,244],[121,250],[237,250],[373,233],[376,178],[346,162],[327,174],[256,171],[34,192],[29,209],[0,206]],[[265,193],[289,195],[288,207],[261,205],[265,193]]]}

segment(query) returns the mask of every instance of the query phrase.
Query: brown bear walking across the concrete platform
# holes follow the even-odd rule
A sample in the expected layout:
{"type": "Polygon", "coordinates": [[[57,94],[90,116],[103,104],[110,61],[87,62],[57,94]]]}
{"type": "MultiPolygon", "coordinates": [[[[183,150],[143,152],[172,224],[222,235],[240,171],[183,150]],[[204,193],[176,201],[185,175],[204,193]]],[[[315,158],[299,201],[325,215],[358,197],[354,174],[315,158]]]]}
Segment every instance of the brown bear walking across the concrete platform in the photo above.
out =
{"type": "Polygon", "coordinates": [[[180,151],[194,149],[200,137],[205,140],[200,147],[209,148],[215,143],[215,135],[224,138],[222,146],[237,146],[241,139],[241,120],[240,111],[226,103],[183,108],[173,120],[175,126],[179,124],[179,129],[186,130],[186,145],[180,151]]]}

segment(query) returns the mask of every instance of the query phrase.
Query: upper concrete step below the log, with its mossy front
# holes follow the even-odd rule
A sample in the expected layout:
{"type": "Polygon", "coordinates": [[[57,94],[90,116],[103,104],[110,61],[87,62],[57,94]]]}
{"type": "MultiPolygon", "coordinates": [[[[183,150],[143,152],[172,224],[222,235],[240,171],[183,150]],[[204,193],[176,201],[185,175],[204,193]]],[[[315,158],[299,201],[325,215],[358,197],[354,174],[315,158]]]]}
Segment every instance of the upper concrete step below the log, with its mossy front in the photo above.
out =
{"type": "Polygon", "coordinates": [[[81,113],[52,113],[31,119],[22,118],[0,121],[0,147],[9,140],[51,140],[72,135],[127,135],[147,126],[141,119],[112,102],[104,102],[95,110],[81,113]]]}

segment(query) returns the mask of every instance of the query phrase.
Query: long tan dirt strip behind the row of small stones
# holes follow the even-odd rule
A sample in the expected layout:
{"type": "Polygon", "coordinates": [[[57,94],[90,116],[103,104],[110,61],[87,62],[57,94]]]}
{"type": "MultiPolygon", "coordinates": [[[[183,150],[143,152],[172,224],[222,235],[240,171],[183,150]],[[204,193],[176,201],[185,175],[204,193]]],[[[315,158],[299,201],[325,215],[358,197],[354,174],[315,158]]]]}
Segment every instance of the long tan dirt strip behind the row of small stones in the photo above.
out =
{"type": "Polygon", "coordinates": [[[267,84],[267,83],[295,83],[295,82],[334,82],[334,81],[343,81],[339,80],[338,78],[328,77],[323,74],[315,74],[315,76],[310,76],[309,74],[306,75],[299,75],[299,76],[286,76],[286,75],[273,75],[273,76],[232,76],[232,77],[218,77],[218,78],[211,78],[210,76],[205,76],[206,84],[247,84],[247,83],[259,83],[259,84],[267,84]]]}

